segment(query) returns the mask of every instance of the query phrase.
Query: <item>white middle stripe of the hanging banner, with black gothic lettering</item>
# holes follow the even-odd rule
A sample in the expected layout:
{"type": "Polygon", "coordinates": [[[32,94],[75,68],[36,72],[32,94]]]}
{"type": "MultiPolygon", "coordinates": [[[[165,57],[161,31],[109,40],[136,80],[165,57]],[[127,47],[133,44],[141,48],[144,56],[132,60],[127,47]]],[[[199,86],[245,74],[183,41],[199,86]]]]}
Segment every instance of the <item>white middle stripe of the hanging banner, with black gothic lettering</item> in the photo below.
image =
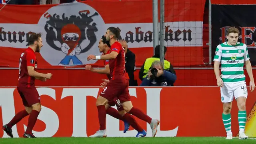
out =
{"type": "MultiPolygon", "coordinates": [[[[128,41],[129,48],[153,46],[152,23],[103,24],[96,33],[97,42],[105,34],[108,27],[120,28],[122,39],[128,41]]],[[[0,24],[0,40],[2,47],[27,48],[26,40],[29,32],[42,32],[45,42],[45,23],[40,24],[0,24]],[[13,42],[14,37],[16,42],[13,42]]],[[[202,46],[202,22],[167,22],[165,23],[165,46],[202,46]]],[[[54,29],[57,35],[56,30],[54,29]]],[[[88,40],[88,39],[87,39],[88,40]]],[[[57,42],[58,43],[58,42],[57,42]]],[[[58,45],[56,43],[56,45],[58,45]]],[[[61,45],[60,45],[61,47],[61,45]]]]}

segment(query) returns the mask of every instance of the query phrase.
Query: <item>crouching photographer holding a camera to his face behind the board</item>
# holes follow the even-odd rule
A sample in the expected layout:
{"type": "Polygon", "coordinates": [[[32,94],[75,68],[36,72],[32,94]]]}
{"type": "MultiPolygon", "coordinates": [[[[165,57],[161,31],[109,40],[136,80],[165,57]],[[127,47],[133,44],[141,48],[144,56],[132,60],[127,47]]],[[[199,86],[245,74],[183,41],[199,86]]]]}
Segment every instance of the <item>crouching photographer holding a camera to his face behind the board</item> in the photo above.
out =
{"type": "Polygon", "coordinates": [[[148,75],[140,86],[173,86],[176,74],[163,69],[163,64],[156,60],[152,63],[148,75]]]}

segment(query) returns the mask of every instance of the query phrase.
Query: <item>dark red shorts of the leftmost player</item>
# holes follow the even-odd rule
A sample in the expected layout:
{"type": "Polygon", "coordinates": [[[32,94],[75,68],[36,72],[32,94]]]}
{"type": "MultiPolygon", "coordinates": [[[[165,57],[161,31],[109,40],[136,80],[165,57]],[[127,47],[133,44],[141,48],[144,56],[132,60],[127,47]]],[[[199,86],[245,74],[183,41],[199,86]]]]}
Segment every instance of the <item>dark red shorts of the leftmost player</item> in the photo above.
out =
{"type": "Polygon", "coordinates": [[[24,106],[28,107],[40,102],[40,96],[35,87],[17,87],[17,90],[20,94],[20,97],[22,98],[24,106]]]}

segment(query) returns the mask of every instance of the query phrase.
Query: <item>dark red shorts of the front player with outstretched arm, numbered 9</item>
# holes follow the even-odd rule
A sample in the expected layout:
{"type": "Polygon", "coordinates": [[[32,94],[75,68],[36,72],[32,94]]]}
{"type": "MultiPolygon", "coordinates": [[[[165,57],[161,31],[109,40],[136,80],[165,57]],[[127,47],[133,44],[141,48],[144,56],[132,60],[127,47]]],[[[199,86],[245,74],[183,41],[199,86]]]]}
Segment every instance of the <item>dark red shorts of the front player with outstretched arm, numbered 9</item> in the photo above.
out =
{"type": "Polygon", "coordinates": [[[117,98],[117,100],[120,101],[120,104],[130,101],[129,80],[123,78],[110,80],[100,93],[100,96],[106,98],[110,102],[117,98]]]}

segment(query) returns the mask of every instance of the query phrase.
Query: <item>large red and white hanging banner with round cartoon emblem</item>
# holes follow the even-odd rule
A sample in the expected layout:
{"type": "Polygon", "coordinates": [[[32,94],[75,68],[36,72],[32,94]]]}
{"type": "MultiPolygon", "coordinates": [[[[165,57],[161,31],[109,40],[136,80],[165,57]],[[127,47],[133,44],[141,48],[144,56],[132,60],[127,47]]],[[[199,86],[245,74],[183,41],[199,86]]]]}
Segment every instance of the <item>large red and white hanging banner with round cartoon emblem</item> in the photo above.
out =
{"type": "MultiPolygon", "coordinates": [[[[0,6],[1,8],[2,6],[0,6]]],[[[203,64],[202,21],[204,0],[166,0],[166,54],[174,66],[203,64]]],[[[43,47],[37,54],[38,68],[64,68],[94,64],[89,54],[100,55],[98,41],[110,26],[136,54],[136,66],[153,55],[152,0],[88,0],[59,5],[6,5],[0,12],[0,66],[18,67],[28,37],[42,32],[43,47]],[[76,41],[64,41],[74,33],[76,41]],[[67,52],[70,51],[70,52],[67,52]]]]}

